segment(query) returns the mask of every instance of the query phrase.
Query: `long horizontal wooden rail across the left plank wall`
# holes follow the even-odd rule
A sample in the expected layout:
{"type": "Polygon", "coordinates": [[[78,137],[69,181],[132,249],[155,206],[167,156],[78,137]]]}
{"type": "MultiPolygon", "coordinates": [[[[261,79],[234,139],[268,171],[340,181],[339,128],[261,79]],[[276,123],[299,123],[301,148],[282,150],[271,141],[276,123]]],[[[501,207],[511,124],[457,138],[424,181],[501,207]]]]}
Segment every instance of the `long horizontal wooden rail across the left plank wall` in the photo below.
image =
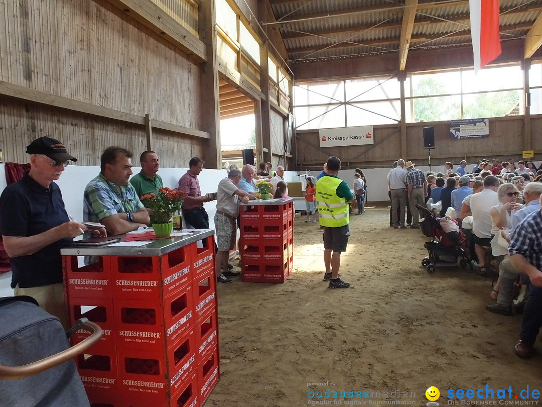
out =
{"type": "MultiPolygon", "coordinates": [[[[132,115],[131,113],[120,112],[118,110],[109,109],[108,107],[97,106],[79,100],[68,99],[62,96],[36,91],[35,89],[10,84],[9,82],[0,81],[0,95],[28,101],[30,103],[37,103],[50,107],[56,107],[58,109],[78,112],[82,113],[83,115],[119,120],[120,122],[141,126],[146,125],[144,116],[132,115]]],[[[152,126],[156,129],[171,131],[183,136],[209,138],[208,132],[190,129],[188,127],[179,126],[173,123],[162,122],[161,120],[152,120],[152,126]]]]}

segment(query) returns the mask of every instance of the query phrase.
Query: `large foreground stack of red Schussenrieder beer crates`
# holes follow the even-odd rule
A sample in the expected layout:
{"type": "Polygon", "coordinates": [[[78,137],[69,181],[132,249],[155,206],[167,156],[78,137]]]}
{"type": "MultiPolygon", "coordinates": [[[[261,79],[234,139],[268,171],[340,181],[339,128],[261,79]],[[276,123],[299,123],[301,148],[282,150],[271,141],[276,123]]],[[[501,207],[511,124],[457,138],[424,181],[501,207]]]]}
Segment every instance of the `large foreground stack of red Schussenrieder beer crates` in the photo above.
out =
{"type": "Polygon", "coordinates": [[[203,405],[220,375],[213,238],[81,267],[64,256],[70,322],[87,317],[104,330],[76,359],[91,406],[203,405]]]}

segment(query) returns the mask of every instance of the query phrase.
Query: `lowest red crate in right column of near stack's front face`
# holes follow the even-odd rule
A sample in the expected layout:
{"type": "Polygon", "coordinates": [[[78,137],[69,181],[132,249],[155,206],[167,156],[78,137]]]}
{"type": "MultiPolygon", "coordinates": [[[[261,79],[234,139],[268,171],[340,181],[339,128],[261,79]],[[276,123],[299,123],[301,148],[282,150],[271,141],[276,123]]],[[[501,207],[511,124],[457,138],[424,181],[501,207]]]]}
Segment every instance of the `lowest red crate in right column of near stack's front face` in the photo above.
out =
{"type": "Polygon", "coordinates": [[[164,352],[119,347],[119,394],[133,407],[169,404],[171,395],[164,352]]]}

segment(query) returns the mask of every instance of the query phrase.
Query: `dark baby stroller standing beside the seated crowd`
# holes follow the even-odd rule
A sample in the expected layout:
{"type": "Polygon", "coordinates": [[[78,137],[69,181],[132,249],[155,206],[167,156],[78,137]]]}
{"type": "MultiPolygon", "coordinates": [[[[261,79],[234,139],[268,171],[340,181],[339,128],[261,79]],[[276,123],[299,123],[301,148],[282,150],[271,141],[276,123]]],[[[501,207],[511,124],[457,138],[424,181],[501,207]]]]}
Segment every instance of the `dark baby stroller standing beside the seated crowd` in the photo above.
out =
{"type": "Polygon", "coordinates": [[[461,257],[459,265],[468,271],[473,271],[473,265],[470,262],[467,253],[460,246],[460,241],[464,240],[463,232],[459,231],[457,238],[452,239],[444,232],[440,222],[435,218],[433,212],[425,206],[416,205],[418,211],[423,213],[424,220],[421,224],[422,233],[429,237],[429,241],[424,243],[429,257],[422,260],[422,266],[429,274],[433,274],[438,267],[456,266],[457,259],[461,257]]]}

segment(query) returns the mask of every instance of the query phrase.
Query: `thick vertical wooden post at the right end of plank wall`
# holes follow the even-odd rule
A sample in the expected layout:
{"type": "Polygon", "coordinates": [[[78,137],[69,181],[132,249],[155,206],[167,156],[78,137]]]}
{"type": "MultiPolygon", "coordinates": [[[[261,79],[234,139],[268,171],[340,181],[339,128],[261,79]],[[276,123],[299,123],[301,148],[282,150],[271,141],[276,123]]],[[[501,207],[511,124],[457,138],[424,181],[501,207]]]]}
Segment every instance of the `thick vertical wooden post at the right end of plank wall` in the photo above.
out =
{"type": "Polygon", "coordinates": [[[199,38],[205,44],[207,62],[201,65],[201,125],[209,132],[208,148],[202,159],[208,168],[222,168],[220,143],[220,98],[218,96],[218,67],[216,46],[215,2],[199,3],[199,38]]]}

